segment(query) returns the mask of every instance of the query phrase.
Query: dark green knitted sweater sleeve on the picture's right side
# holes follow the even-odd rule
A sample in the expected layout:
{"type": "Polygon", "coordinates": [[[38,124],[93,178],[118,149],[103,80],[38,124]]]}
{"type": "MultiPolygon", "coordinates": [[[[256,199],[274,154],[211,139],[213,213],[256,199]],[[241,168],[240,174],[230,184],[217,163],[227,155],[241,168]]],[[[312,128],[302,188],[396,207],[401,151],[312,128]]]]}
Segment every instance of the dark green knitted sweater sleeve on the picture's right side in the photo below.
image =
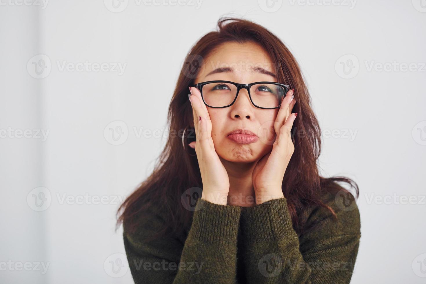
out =
{"type": "Polygon", "coordinates": [[[338,220],[324,210],[313,210],[308,220],[317,223],[316,229],[300,237],[286,198],[245,208],[241,229],[249,283],[349,283],[361,236],[360,215],[356,205],[345,209],[335,202],[339,201],[333,198],[328,205],[338,220]]]}

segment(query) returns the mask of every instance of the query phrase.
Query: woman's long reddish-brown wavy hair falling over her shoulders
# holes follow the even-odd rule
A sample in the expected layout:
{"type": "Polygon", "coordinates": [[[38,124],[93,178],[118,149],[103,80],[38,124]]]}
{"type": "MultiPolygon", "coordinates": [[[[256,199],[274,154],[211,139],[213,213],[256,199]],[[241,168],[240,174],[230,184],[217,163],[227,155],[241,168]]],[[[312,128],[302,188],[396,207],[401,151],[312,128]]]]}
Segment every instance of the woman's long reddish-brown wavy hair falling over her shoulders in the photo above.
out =
{"type": "MultiPolygon", "coordinates": [[[[342,176],[323,178],[319,175],[317,159],[321,152],[321,130],[296,59],[278,37],[252,21],[225,17],[219,19],[217,28],[217,31],[201,37],[187,54],[168,111],[169,133],[178,135],[169,135],[152,174],[119,207],[117,228],[124,223],[127,232],[134,232],[141,222],[141,218],[135,217],[144,210],[152,210],[150,208],[165,212],[165,226],[153,238],[165,233],[183,232],[190,227],[192,212],[182,206],[181,196],[189,188],[202,188],[202,181],[196,156],[188,155],[182,147],[183,129],[187,128],[186,134],[193,129],[188,86],[197,77],[200,60],[226,42],[258,43],[273,60],[278,82],[295,89],[293,112],[298,112],[298,119],[291,131],[295,149],[282,181],[282,192],[287,198],[294,229],[299,236],[302,234],[300,217],[308,206],[324,207],[336,218],[333,209],[322,202],[324,192],[337,192],[343,189],[337,183],[345,182],[355,189],[358,197],[358,186],[342,176]]],[[[194,137],[192,135],[192,141],[194,137]]]]}

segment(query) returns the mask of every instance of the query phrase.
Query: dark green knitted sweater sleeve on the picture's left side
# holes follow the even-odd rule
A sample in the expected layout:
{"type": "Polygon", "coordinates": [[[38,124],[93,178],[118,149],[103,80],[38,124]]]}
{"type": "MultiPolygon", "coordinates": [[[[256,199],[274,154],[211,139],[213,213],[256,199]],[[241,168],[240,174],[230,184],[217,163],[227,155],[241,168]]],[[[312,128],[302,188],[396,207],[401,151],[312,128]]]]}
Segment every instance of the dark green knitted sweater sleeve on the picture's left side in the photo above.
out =
{"type": "Polygon", "coordinates": [[[235,283],[237,234],[241,208],[197,200],[184,242],[174,237],[144,241],[164,224],[151,212],[150,222],[128,234],[124,247],[138,283],[235,283]]]}

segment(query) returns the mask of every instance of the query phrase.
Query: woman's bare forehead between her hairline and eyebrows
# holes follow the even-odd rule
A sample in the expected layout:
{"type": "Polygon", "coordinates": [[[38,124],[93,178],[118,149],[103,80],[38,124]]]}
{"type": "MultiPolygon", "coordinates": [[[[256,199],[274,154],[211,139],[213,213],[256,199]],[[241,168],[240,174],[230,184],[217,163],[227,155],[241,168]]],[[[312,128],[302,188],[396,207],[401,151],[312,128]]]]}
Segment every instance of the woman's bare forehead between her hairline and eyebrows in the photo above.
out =
{"type": "Polygon", "coordinates": [[[268,53],[262,46],[254,42],[222,43],[204,58],[201,74],[207,75],[211,70],[222,67],[232,67],[235,72],[251,72],[255,67],[275,72],[268,53]]]}

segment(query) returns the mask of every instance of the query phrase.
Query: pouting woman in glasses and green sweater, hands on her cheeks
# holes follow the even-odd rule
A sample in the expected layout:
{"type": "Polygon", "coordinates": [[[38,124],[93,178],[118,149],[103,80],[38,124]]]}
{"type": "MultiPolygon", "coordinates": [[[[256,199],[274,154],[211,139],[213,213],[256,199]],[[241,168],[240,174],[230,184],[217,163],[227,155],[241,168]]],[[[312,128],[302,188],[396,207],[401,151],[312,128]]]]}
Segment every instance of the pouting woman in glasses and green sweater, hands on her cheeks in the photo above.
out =
{"type": "Polygon", "coordinates": [[[135,283],[349,283],[360,215],[337,182],[358,187],[320,177],[320,127],[281,40],[219,20],[169,114],[158,165],[119,209],[135,283]]]}

